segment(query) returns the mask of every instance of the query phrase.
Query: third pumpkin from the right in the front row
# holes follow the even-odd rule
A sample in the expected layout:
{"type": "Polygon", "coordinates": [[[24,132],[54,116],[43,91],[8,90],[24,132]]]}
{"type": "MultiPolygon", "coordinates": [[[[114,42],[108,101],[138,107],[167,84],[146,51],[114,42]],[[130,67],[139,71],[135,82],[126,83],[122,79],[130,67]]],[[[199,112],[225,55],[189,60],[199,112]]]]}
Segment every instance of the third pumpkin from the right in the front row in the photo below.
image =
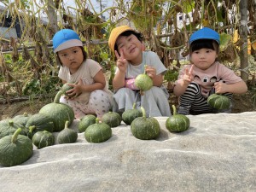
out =
{"type": "Polygon", "coordinates": [[[84,138],[89,143],[102,143],[112,137],[112,130],[108,124],[100,123],[96,118],[96,123],[90,125],[84,131],[84,138]]]}

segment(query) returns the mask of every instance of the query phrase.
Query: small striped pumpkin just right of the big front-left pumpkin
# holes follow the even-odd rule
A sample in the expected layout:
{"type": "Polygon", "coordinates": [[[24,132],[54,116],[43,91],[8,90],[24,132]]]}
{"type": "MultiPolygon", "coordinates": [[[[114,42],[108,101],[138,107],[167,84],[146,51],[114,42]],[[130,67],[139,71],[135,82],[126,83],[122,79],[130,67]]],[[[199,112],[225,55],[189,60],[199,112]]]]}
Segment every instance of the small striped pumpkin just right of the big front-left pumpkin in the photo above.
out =
{"type": "Polygon", "coordinates": [[[38,131],[33,135],[32,143],[38,148],[45,148],[55,144],[55,137],[49,131],[38,131]]]}

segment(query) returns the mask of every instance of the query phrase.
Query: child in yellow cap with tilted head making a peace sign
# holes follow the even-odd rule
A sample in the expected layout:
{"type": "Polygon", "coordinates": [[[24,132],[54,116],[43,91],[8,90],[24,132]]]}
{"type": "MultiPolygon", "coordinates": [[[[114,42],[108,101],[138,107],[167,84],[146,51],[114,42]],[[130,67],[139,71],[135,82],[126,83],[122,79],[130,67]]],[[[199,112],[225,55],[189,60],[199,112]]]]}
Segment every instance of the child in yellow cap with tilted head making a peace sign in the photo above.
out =
{"type": "Polygon", "coordinates": [[[154,52],[144,51],[142,34],[130,26],[119,26],[110,33],[108,45],[117,58],[113,77],[113,111],[122,113],[137,103],[137,108],[143,106],[147,116],[171,116],[169,94],[163,86],[166,67],[154,52]],[[134,81],[144,70],[153,80],[153,87],[141,95],[134,81]]]}

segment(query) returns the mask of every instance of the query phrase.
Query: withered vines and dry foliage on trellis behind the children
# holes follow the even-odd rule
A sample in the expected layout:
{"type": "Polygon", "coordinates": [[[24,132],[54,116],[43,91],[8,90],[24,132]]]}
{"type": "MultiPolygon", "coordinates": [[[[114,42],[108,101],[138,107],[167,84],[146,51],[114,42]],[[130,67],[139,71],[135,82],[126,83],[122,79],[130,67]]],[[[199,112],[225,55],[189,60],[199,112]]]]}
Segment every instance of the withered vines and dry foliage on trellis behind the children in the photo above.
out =
{"type": "MultiPolygon", "coordinates": [[[[102,65],[111,87],[115,61],[108,49],[108,35],[114,26],[122,24],[134,25],[143,32],[146,48],[160,56],[168,68],[165,80],[171,95],[177,72],[187,62],[189,35],[198,27],[212,27],[221,34],[220,61],[247,82],[249,102],[253,108],[256,105],[254,0],[117,0],[108,8],[97,1],[100,12],[90,0],[74,1],[73,6],[61,0],[2,2],[5,9],[0,12],[0,25],[11,18],[9,29],[19,24],[21,35],[6,39],[0,33],[1,105],[28,101],[30,108],[38,110],[39,102],[53,101],[61,82],[50,39],[61,28],[79,33],[84,49],[102,65]],[[106,14],[108,19],[102,17],[106,14]],[[49,22],[43,20],[43,15],[49,22]]],[[[170,104],[175,102],[170,100],[170,104]]],[[[248,102],[247,97],[241,96],[240,100],[248,102]]],[[[6,108],[1,108],[2,114],[7,112],[6,108]]]]}

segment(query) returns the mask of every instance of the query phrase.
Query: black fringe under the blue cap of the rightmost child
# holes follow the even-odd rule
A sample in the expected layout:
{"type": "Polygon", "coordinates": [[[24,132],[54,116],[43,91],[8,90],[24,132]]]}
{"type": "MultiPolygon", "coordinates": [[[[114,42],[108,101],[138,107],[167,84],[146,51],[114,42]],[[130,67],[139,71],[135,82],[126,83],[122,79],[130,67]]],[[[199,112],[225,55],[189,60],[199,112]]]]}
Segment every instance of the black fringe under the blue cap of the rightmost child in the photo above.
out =
{"type": "Polygon", "coordinates": [[[215,50],[218,54],[218,43],[212,39],[198,39],[190,44],[190,53],[199,49],[212,49],[215,50]]]}

